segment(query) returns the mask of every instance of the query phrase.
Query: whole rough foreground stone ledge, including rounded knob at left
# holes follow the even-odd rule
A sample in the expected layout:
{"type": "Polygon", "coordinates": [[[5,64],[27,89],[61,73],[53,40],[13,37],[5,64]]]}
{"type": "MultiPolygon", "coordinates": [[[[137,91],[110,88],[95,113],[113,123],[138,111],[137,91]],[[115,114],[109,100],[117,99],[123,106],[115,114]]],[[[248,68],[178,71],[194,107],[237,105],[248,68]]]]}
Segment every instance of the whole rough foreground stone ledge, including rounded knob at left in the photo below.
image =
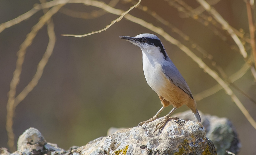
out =
{"type": "Polygon", "coordinates": [[[154,134],[156,124],[161,120],[159,118],[140,128],[119,130],[108,137],[90,141],[85,146],[72,146],[68,151],[46,143],[37,129],[29,128],[19,137],[18,150],[11,155],[216,155],[216,148],[206,138],[205,128],[201,124],[170,120],[162,133],[154,134]]]}

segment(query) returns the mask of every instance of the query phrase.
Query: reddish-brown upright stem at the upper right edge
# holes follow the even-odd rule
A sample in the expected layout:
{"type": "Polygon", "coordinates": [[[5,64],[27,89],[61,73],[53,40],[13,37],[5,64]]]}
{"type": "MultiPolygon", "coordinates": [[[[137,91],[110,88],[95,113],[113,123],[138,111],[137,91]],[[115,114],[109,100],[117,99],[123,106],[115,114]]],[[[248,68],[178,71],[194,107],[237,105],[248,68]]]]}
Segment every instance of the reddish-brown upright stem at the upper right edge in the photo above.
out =
{"type": "MultiPolygon", "coordinates": [[[[253,24],[253,17],[251,14],[251,4],[250,1],[246,1],[246,8],[247,8],[247,16],[248,16],[248,23],[249,23],[249,31],[250,31],[250,37],[251,37],[251,50],[254,55],[254,62],[255,62],[255,67],[256,67],[256,46],[255,46],[255,27],[253,24]]],[[[256,79],[256,78],[255,78],[256,79]]]]}

